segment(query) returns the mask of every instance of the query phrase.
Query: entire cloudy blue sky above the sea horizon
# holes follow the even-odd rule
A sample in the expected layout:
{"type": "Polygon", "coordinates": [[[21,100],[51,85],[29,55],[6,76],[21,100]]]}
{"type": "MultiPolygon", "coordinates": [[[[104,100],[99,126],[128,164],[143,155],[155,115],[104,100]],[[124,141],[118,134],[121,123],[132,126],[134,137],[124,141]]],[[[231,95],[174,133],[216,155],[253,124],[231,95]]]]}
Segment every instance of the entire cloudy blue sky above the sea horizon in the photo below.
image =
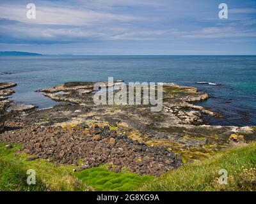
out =
{"type": "Polygon", "coordinates": [[[255,0],[1,0],[0,51],[73,55],[256,54],[255,0]],[[27,4],[36,18],[27,18],[27,4]],[[219,18],[219,4],[228,18],[219,18]]]}

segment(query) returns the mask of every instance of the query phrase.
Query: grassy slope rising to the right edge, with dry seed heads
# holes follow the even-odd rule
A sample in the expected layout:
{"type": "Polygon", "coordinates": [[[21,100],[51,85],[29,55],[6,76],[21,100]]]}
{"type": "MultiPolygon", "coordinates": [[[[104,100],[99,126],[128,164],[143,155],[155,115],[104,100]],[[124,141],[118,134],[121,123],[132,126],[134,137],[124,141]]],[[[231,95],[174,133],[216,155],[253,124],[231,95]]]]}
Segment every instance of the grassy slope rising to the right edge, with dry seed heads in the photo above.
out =
{"type": "Polygon", "coordinates": [[[256,191],[256,143],[221,152],[198,163],[169,171],[140,188],[141,191],[256,191]],[[218,172],[228,172],[220,184],[218,172]]]}

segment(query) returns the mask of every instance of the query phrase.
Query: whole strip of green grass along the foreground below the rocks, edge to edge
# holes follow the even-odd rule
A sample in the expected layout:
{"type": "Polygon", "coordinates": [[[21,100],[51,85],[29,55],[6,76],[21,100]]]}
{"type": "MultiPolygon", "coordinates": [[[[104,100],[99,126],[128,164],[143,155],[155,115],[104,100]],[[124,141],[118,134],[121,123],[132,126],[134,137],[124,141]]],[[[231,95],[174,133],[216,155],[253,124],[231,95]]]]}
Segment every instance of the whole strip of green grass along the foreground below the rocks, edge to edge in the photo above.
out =
{"type": "Polygon", "coordinates": [[[160,177],[141,176],[108,165],[73,172],[73,166],[58,165],[19,153],[21,145],[0,144],[1,191],[255,191],[256,143],[220,152],[195,163],[184,164],[160,177]],[[26,183],[26,170],[36,171],[36,185],[26,183]],[[218,171],[228,172],[228,184],[219,184],[218,171]]]}

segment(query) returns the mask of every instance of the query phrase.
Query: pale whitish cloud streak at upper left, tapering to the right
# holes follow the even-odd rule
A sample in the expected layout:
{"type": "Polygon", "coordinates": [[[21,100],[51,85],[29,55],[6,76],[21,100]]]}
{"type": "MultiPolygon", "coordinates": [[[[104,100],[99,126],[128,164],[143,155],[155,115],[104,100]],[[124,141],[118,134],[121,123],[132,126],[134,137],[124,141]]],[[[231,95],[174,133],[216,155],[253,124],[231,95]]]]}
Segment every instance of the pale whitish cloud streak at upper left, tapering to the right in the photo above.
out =
{"type": "Polygon", "coordinates": [[[144,20],[136,15],[125,15],[110,13],[107,11],[94,11],[90,9],[73,9],[51,6],[36,6],[36,19],[26,17],[26,5],[1,5],[0,18],[19,20],[28,24],[49,24],[49,25],[92,25],[109,22],[131,22],[144,20]]]}

